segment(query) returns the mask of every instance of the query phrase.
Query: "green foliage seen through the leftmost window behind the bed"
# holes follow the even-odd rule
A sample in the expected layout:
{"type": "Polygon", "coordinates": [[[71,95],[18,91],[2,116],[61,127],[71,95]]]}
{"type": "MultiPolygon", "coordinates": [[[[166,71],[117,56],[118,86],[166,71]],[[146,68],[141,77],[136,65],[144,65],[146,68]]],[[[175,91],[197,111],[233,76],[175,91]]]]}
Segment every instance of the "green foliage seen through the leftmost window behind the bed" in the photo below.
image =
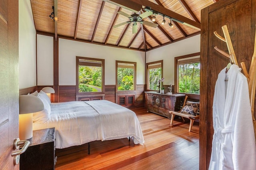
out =
{"type": "Polygon", "coordinates": [[[79,92],[102,91],[102,67],[79,65],[79,92]]]}

